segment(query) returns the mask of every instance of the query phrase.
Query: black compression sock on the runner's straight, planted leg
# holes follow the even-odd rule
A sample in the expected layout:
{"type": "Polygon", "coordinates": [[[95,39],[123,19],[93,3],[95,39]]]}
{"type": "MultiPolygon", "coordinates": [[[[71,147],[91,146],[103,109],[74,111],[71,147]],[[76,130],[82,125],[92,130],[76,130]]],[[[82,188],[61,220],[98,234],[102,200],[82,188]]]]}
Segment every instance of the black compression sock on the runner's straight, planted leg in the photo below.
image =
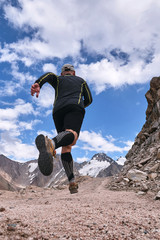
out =
{"type": "Polygon", "coordinates": [[[71,153],[70,152],[62,153],[61,160],[68,180],[71,181],[71,179],[74,179],[73,158],[71,153]]]}

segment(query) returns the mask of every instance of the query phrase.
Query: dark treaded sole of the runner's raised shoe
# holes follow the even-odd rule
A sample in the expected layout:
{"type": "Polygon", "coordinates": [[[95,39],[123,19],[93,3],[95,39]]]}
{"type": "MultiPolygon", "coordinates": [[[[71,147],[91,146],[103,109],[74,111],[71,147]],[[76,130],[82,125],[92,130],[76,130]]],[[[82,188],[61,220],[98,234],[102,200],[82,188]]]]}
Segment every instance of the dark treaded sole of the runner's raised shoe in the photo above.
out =
{"type": "Polygon", "coordinates": [[[45,145],[45,137],[42,134],[38,135],[36,137],[35,143],[39,151],[39,170],[43,175],[49,176],[53,171],[53,156],[51,153],[47,152],[47,148],[45,145]]]}

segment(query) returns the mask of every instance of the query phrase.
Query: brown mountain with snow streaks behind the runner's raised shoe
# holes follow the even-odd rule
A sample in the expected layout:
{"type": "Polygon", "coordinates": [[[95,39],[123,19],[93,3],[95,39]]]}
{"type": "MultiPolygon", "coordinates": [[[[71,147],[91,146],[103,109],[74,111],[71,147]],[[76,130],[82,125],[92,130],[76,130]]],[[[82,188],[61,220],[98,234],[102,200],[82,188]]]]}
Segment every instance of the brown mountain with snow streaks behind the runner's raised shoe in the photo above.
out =
{"type": "Polygon", "coordinates": [[[57,178],[61,179],[65,177],[65,173],[62,169],[59,155],[54,159],[53,173],[47,177],[39,171],[37,160],[20,163],[12,161],[4,155],[0,155],[0,176],[6,179],[8,183],[12,183],[15,187],[19,188],[28,185],[45,187],[50,184],[51,180],[52,182],[56,182],[57,178]]]}

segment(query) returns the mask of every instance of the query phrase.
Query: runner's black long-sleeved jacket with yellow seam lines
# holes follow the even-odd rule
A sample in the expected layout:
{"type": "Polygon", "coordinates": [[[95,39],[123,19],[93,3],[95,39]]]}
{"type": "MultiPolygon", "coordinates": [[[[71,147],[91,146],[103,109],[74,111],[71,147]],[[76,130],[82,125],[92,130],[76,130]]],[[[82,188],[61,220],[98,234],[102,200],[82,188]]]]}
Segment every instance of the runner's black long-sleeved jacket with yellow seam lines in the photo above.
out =
{"type": "Polygon", "coordinates": [[[91,92],[83,78],[72,75],[57,76],[49,72],[36,81],[40,88],[46,82],[55,89],[54,113],[69,104],[85,108],[92,103],[91,92]]]}

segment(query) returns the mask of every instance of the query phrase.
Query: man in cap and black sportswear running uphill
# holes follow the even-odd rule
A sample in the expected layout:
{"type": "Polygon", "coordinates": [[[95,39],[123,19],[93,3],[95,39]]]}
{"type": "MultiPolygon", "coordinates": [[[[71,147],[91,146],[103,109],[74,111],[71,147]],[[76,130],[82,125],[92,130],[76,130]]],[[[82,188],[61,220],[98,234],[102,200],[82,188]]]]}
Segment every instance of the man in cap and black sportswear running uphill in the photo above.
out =
{"type": "Polygon", "coordinates": [[[92,103],[92,95],[86,81],[75,75],[74,67],[65,64],[61,76],[48,72],[31,87],[31,95],[39,96],[40,89],[48,82],[55,89],[53,120],[58,135],[53,139],[40,134],[35,143],[39,150],[38,166],[42,174],[48,176],[53,171],[55,150],[62,147],[61,160],[69,181],[70,193],[78,192],[73,172],[72,146],[78,139],[85,108],[92,103]]]}

